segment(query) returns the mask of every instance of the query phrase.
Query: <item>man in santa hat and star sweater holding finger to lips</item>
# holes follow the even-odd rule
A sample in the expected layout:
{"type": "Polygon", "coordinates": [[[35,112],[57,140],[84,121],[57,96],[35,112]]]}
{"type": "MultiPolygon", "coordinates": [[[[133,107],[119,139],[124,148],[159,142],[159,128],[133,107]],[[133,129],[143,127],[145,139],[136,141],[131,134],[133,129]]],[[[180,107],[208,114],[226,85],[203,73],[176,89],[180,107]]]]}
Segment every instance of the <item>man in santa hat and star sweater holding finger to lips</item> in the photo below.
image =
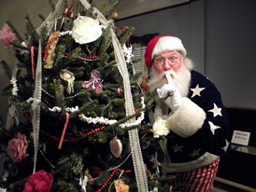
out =
{"type": "Polygon", "coordinates": [[[173,187],[208,192],[231,131],[219,90],[192,69],[186,55],[178,37],[159,35],[149,41],[145,60],[149,93],[155,99],[152,132],[159,137],[164,122],[161,167],[163,174],[178,173],[173,187]]]}

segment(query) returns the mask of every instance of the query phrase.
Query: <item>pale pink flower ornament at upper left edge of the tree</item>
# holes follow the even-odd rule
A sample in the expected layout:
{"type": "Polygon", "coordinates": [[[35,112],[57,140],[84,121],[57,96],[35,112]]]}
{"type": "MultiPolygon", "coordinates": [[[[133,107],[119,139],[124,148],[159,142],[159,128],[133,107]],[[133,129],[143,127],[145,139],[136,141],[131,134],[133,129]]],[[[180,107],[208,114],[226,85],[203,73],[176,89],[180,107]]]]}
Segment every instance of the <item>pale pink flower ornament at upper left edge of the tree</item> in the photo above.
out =
{"type": "Polygon", "coordinates": [[[7,23],[4,24],[3,29],[0,31],[0,42],[5,48],[11,49],[14,41],[16,41],[16,35],[11,31],[7,23]]]}

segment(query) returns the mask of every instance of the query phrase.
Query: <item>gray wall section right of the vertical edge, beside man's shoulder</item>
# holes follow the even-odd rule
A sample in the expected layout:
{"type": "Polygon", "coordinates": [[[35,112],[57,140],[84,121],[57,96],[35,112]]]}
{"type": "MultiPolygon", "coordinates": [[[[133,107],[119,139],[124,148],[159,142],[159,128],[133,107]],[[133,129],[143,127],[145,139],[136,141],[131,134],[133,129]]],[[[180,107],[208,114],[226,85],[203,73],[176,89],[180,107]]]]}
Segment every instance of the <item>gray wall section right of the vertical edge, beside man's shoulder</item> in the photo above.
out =
{"type": "Polygon", "coordinates": [[[227,105],[256,108],[256,1],[206,1],[206,75],[227,105]]]}

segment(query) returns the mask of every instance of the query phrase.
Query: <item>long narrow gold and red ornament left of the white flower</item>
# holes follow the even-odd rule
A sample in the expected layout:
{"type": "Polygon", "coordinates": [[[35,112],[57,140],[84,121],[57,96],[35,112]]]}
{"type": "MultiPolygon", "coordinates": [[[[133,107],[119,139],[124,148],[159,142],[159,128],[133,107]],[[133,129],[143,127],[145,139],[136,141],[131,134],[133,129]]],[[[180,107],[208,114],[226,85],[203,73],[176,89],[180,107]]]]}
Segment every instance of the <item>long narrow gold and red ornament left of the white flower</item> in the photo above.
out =
{"type": "Polygon", "coordinates": [[[44,57],[44,68],[46,69],[52,69],[53,68],[53,62],[54,62],[54,57],[55,57],[55,48],[56,44],[58,42],[60,32],[54,32],[50,34],[49,40],[47,42],[46,46],[46,52],[45,52],[45,57],[44,57]]]}

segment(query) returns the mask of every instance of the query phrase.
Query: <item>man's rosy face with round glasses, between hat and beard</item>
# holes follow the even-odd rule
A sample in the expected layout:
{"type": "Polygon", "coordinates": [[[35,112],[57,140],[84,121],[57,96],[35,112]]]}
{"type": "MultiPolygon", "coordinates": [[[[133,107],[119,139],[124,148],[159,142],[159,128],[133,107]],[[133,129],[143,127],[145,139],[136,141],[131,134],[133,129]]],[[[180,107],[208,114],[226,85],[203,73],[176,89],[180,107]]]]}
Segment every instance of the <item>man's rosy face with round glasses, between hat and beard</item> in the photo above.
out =
{"type": "Polygon", "coordinates": [[[159,74],[170,70],[177,73],[183,65],[184,57],[177,50],[163,52],[153,59],[153,67],[159,74]]]}

